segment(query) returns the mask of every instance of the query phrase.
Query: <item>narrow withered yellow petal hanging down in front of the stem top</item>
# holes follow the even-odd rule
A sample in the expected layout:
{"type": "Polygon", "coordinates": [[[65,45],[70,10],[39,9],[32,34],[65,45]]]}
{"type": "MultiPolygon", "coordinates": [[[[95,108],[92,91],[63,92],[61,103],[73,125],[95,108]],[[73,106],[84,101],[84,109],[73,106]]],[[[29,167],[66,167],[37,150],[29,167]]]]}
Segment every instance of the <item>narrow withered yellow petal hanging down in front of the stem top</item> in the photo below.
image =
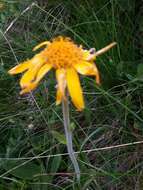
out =
{"type": "Polygon", "coordinates": [[[56,104],[60,104],[62,98],[65,97],[65,88],[66,88],[66,72],[65,69],[56,70],[56,79],[57,79],[57,100],[56,104]]]}

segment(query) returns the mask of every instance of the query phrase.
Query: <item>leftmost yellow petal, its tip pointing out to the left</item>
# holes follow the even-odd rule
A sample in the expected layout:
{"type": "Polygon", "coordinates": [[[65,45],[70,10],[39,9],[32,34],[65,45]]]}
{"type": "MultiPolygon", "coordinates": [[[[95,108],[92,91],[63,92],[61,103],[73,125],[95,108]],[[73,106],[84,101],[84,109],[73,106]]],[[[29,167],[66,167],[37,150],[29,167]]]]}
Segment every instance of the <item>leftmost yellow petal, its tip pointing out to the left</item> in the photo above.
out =
{"type": "Polygon", "coordinates": [[[11,75],[22,73],[22,72],[26,71],[27,69],[29,69],[31,64],[32,64],[31,61],[25,61],[15,67],[13,67],[12,69],[10,69],[8,71],[8,73],[11,75]]]}

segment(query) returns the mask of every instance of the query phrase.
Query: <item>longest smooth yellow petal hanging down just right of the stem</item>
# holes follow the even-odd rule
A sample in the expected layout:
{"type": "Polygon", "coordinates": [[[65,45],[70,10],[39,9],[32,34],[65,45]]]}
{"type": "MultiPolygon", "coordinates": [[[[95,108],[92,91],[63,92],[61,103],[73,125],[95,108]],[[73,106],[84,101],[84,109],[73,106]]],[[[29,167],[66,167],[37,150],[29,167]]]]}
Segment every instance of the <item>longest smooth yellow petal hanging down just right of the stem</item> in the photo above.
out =
{"type": "Polygon", "coordinates": [[[84,108],[84,100],[78,74],[73,68],[69,68],[66,71],[69,94],[75,107],[81,111],[84,108]]]}

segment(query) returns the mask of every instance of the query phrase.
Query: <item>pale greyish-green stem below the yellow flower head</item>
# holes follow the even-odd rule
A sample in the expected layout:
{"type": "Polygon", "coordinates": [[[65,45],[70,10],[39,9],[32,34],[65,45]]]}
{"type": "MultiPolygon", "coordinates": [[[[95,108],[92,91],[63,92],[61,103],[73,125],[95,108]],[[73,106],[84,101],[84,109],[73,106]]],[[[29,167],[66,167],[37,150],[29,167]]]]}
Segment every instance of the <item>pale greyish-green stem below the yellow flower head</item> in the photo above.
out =
{"type": "Polygon", "coordinates": [[[78,162],[76,160],[73,144],[72,144],[72,131],[70,129],[70,119],[69,119],[69,104],[68,104],[68,97],[62,100],[62,110],[63,110],[63,120],[64,120],[64,130],[66,135],[66,142],[67,142],[67,149],[72,161],[72,164],[75,169],[76,178],[80,180],[80,169],[78,162]]]}

